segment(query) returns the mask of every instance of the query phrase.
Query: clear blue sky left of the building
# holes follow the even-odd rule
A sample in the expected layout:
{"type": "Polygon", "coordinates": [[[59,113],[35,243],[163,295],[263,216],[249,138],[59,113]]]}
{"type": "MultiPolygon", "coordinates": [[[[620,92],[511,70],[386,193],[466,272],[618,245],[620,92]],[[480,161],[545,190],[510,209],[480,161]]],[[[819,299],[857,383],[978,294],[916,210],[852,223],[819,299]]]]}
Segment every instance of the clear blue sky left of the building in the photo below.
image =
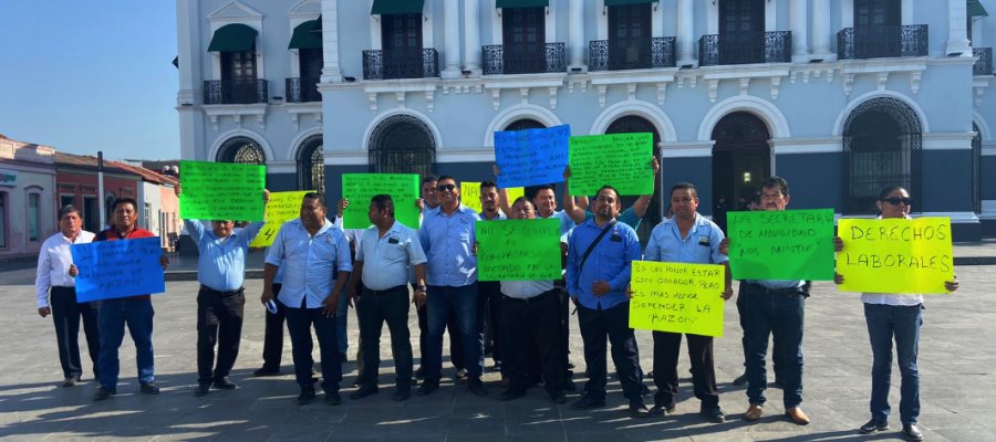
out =
{"type": "Polygon", "coordinates": [[[179,158],[175,1],[0,0],[0,134],[179,158]]]}

